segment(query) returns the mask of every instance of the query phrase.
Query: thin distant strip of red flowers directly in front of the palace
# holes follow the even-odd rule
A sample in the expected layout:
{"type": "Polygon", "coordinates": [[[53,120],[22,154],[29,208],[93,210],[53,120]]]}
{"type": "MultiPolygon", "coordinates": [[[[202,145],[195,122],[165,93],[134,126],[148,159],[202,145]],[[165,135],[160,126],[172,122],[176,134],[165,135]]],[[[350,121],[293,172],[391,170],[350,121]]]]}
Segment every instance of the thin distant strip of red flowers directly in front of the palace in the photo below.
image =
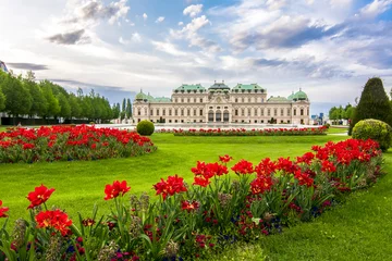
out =
{"type": "Polygon", "coordinates": [[[185,129],[166,129],[160,133],[173,133],[174,136],[306,136],[306,135],[326,135],[327,127],[310,128],[264,128],[264,129],[245,129],[245,128],[189,128],[185,129]]]}

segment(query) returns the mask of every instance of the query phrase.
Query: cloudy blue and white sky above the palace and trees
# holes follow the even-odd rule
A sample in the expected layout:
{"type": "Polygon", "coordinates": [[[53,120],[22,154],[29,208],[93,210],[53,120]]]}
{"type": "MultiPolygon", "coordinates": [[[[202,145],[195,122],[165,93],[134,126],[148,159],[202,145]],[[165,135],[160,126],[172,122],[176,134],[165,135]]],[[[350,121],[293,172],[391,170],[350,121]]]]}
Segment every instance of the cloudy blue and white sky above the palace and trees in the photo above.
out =
{"type": "Polygon", "coordinates": [[[0,60],[111,103],[224,80],[311,114],[392,87],[392,0],[0,0],[0,60]]]}

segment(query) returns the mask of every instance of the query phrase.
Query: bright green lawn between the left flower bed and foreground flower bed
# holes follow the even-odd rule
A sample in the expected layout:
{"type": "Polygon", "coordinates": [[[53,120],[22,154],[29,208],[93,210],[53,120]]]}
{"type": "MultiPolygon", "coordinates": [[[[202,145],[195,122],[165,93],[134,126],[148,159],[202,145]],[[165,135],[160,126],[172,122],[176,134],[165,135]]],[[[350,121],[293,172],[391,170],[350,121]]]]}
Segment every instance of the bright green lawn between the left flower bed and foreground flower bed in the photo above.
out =
{"type": "Polygon", "coordinates": [[[100,213],[107,213],[112,202],[103,200],[103,188],[115,179],[126,179],[132,192],[154,195],[152,185],[161,177],[179,174],[192,183],[191,167],[198,160],[215,162],[218,156],[230,154],[235,161],[246,159],[258,163],[266,157],[301,156],[313,145],[346,137],[174,137],[172,134],[154,134],[151,138],[158,151],[138,158],[0,164],[0,199],[10,208],[10,223],[27,216],[29,202],[26,196],[40,184],[56,188],[48,206],[60,207],[75,219],[78,211],[83,215],[90,214],[94,203],[99,206],[100,213]]]}

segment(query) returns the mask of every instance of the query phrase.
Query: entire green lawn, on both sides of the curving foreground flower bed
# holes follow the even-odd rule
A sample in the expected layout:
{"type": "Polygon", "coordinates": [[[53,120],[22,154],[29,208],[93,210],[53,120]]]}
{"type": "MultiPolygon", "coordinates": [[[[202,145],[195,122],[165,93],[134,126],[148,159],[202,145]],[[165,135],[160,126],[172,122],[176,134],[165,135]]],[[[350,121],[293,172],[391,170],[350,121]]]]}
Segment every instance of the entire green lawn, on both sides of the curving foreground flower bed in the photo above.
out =
{"type": "MultiPolygon", "coordinates": [[[[0,165],[0,199],[10,207],[11,222],[26,216],[28,191],[44,183],[57,190],[48,201],[72,217],[89,214],[97,203],[100,212],[112,202],[103,200],[103,187],[126,179],[133,192],[154,195],[160,177],[179,174],[192,182],[189,169],[197,160],[216,161],[230,154],[235,161],[258,162],[270,157],[295,157],[313,145],[342,140],[347,136],[314,137],[174,137],[154,134],[158,151],[131,159],[91,162],[56,162],[0,165]]],[[[392,152],[385,153],[385,172],[392,172],[392,152]]],[[[392,254],[392,177],[387,175],[369,190],[355,192],[347,201],[314,222],[298,224],[281,235],[253,245],[233,247],[210,260],[390,260],[392,254]]],[[[1,221],[2,222],[2,221],[1,221]]],[[[1,223],[0,223],[1,224],[1,223]]]]}

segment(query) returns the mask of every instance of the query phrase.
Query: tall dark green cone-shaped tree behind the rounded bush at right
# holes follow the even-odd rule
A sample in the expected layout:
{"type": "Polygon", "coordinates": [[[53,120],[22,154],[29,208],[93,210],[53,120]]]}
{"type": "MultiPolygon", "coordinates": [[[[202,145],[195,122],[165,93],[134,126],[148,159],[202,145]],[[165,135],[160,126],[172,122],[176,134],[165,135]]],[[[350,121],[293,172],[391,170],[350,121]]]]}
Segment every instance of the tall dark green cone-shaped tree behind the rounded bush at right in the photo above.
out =
{"type": "Polygon", "coordinates": [[[350,124],[348,134],[357,122],[365,119],[376,119],[392,126],[392,108],[382,80],[378,77],[370,78],[360,95],[353,121],[350,124]]]}

